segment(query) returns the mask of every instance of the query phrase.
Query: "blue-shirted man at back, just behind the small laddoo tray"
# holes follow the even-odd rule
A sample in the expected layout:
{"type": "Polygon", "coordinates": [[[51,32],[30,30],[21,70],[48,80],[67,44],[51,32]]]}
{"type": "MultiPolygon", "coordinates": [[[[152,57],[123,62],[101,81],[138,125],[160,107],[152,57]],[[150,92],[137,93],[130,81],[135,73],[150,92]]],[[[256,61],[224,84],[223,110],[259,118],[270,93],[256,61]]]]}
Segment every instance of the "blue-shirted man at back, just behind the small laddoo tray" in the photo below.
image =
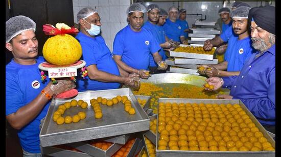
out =
{"type": "Polygon", "coordinates": [[[169,9],[169,18],[166,20],[166,23],[163,25],[165,33],[169,39],[172,39],[176,42],[181,42],[182,44],[188,44],[188,41],[185,40],[184,30],[176,22],[178,17],[178,9],[176,7],[171,7],[169,9]]]}

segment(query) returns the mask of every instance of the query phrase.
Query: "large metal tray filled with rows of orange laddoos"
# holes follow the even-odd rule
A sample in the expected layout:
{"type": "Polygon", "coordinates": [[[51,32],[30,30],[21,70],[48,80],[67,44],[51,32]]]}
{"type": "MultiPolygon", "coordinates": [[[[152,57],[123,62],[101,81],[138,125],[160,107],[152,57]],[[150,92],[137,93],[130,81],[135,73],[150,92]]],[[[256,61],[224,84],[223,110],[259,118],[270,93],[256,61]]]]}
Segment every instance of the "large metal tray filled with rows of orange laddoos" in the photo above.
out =
{"type": "Polygon", "coordinates": [[[158,100],[157,156],[275,156],[275,141],[241,100],[158,100]]]}

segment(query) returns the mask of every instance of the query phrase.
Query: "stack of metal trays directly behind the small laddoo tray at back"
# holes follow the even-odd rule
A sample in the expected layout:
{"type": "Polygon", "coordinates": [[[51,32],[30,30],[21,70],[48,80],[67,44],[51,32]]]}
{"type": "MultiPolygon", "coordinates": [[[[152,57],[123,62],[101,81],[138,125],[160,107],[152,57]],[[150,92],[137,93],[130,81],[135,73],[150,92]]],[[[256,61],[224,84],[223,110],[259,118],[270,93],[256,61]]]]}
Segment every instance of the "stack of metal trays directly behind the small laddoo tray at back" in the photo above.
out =
{"type": "Polygon", "coordinates": [[[208,39],[213,39],[216,37],[216,35],[220,34],[220,30],[216,30],[213,28],[190,28],[191,34],[189,34],[189,37],[191,37],[191,40],[189,40],[189,44],[193,44],[194,46],[202,46],[204,45],[204,42],[208,39]]]}

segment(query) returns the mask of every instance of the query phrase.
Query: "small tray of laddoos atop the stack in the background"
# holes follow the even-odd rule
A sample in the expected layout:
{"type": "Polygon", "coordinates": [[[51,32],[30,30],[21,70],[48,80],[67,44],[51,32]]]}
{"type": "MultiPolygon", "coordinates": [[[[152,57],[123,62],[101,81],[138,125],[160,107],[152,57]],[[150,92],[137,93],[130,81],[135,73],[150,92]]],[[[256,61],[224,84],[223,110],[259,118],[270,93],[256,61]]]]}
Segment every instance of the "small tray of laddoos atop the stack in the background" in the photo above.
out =
{"type": "Polygon", "coordinates": [[[170,56],[213,60],[215,50],[215,47],[213,47],[212,50],[205,51],[202,46],[190,46],[181,44],[170,51],[170,56]]]}

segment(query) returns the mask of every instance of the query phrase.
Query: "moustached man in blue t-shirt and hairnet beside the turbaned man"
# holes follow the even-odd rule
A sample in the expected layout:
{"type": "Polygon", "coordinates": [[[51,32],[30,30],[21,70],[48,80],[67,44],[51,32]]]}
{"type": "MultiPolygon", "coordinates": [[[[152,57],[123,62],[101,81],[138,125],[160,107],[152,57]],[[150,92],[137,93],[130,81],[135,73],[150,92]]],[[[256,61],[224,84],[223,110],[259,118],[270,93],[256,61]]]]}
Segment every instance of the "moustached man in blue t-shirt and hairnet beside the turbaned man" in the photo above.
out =
{"type": "Polygon", "coordinates": [[[232,28],[235,34],[238,35],[238,38],[234,36],[229,38],[224,56],[225,61],[218,65],[203,65],[206,68],[204,71],[198,71],[200,74],[205,74],[208,77],[239,75],[244,62],[253,53],[247,23],[249,10],[249,7],[239,7],[231,11],[232,28]],[[206,70],[207,68],[211,70],[206,70]]]}

